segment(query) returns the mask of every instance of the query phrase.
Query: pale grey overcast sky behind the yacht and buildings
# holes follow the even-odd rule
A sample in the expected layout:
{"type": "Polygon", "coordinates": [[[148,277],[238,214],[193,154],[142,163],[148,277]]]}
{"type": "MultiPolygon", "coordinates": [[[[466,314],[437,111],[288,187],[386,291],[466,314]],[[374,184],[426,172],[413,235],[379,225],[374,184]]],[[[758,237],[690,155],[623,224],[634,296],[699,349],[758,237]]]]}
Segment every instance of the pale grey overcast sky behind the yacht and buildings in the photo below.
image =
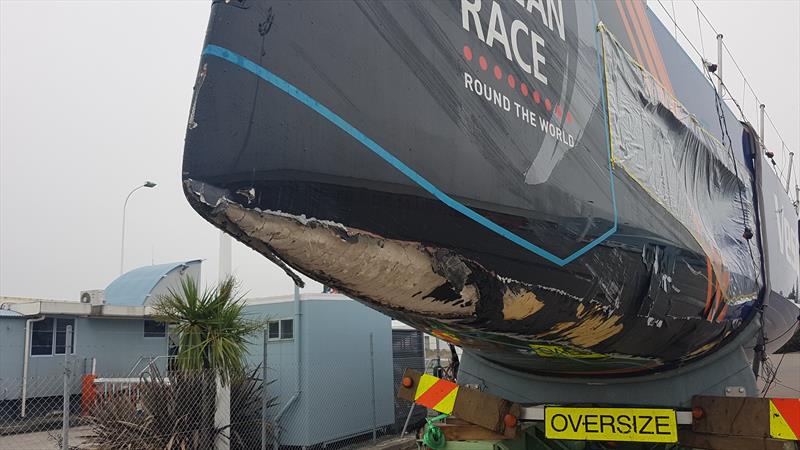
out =
{"type": "MultiPolygon", "coordinates": [[[[696,39],[692,3],[661,1],[696,39]]],[[[699,4],[786,145],[800,148],[800,2],[699,4]]],[[[201,258],[204,281],[216,278],[219,233],[180,187],[209,9],[190,0],[0,0],[0,295],[77,299],[104,288],[119,272],[125,196],[144,180],[158,186],[128,205],[126,269],[201,258]]],[[[703,34],[712,53],[714,34],[703,34]]],[[[238,243],[233,267],[251,296],[291,292],[282,271],[238,243]]]]}

